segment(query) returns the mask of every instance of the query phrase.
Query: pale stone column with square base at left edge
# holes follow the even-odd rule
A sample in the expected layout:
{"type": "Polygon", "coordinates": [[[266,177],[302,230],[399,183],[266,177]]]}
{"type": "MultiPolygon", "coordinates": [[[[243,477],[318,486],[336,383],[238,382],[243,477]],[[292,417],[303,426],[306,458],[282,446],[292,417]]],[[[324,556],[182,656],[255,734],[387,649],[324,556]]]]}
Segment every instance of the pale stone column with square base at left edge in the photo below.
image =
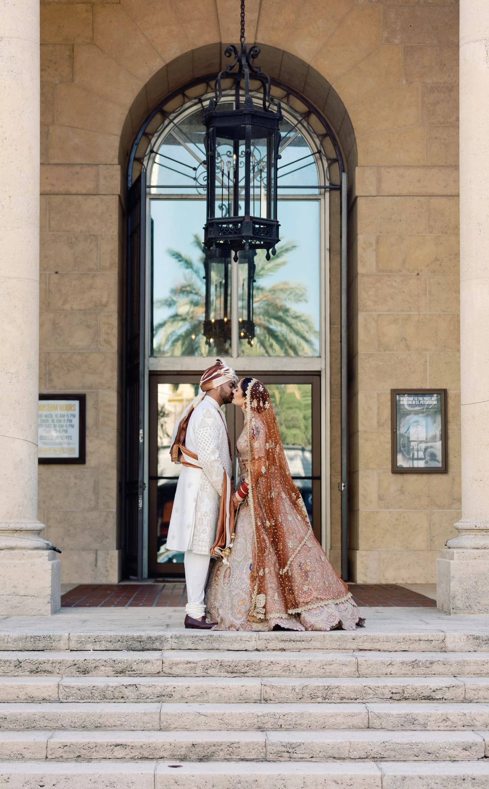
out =
{"type": "Polygon", "coordinates": [[[60,606],[37,520],[39,0],[4,0],[0,29],[0,615],[60,606]]]}

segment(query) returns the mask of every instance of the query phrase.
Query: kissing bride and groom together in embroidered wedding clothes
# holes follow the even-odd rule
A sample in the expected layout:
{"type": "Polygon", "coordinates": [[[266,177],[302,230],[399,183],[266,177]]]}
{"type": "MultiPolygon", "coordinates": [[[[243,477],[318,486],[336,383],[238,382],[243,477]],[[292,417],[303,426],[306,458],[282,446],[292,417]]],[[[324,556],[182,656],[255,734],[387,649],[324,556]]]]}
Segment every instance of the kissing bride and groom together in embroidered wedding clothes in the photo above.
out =
{"type": "Polygon", "coordinates": [[[175,425],[178,479],[166,547],[185,552],[185,627],[354,630],[364,620],[315,539],[267,387],[218,359],[175,425]],[[240,478],[221,406],[243,409],[240,478]],[[215,557],[212,563],[211,556],[215,557]],[[207,607],[207,615],[206,615],[207,607]]]}

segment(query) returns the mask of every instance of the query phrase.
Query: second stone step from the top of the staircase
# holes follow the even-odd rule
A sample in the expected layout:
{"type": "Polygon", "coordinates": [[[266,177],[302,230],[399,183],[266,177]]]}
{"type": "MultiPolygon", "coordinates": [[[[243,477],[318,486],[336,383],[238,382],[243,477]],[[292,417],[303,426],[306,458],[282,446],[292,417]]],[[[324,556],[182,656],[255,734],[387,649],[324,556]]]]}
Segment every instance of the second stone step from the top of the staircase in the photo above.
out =
{"type": "Polygon", "coordinates": [[[0,676],[487,677],[489,653],[2,652],[0,676]]]}

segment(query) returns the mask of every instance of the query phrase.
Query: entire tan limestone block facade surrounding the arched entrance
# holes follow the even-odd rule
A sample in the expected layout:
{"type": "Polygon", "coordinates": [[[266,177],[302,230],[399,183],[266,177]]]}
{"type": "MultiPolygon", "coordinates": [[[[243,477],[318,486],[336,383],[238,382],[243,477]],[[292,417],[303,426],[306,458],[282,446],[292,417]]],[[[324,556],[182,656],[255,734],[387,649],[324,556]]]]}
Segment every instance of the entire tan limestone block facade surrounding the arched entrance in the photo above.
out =
{"type": "MultiPolygon", "coordinates": [[[[429,582],[460,518],[456,2],[248,0],[247,39],[338,135],[349,174],[350,562],[429,582]],[[390,389],[449,391],[449,472],[390,473],[390,389]]],[[[120,573],[127,159],[165,95],[215,73],[237,0],[41,2],[39,391],[87,394],[86,466],[39,467],[62,579],[120,573]]],[[[331,202],[330,558],[340,541],[339,236],[331,202]]]]}

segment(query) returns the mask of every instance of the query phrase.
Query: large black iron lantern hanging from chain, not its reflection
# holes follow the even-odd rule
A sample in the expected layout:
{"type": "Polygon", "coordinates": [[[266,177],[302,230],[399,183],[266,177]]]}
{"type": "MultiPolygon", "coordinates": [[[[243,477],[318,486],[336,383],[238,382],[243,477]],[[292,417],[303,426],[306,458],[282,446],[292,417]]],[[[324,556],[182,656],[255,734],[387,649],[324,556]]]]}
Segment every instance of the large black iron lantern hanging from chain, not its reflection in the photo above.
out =
{"type": "Polygon", "coordinates": [[[203,243],[207,249],[234,252],[266,249],[275,254],[278,244],[277,170],[282,121],[280,102],[270,94],[270,77],[253,65],[259,47],[245,43],[245,2],[241,0],[241,49],[226,48],[226,66],[215,80],[215,98],[203,114],[206,125],[207,222],[203,243]],[[237,67],[237,68],[236,68],[237,67]],[[233,70],[234,69],[234,70],[233,70]],[[234,80],[234,109],[219,109],[222,78],[234,80]],[[261,84],[261,106],[253,102],[250,79],[261,84]]]}

